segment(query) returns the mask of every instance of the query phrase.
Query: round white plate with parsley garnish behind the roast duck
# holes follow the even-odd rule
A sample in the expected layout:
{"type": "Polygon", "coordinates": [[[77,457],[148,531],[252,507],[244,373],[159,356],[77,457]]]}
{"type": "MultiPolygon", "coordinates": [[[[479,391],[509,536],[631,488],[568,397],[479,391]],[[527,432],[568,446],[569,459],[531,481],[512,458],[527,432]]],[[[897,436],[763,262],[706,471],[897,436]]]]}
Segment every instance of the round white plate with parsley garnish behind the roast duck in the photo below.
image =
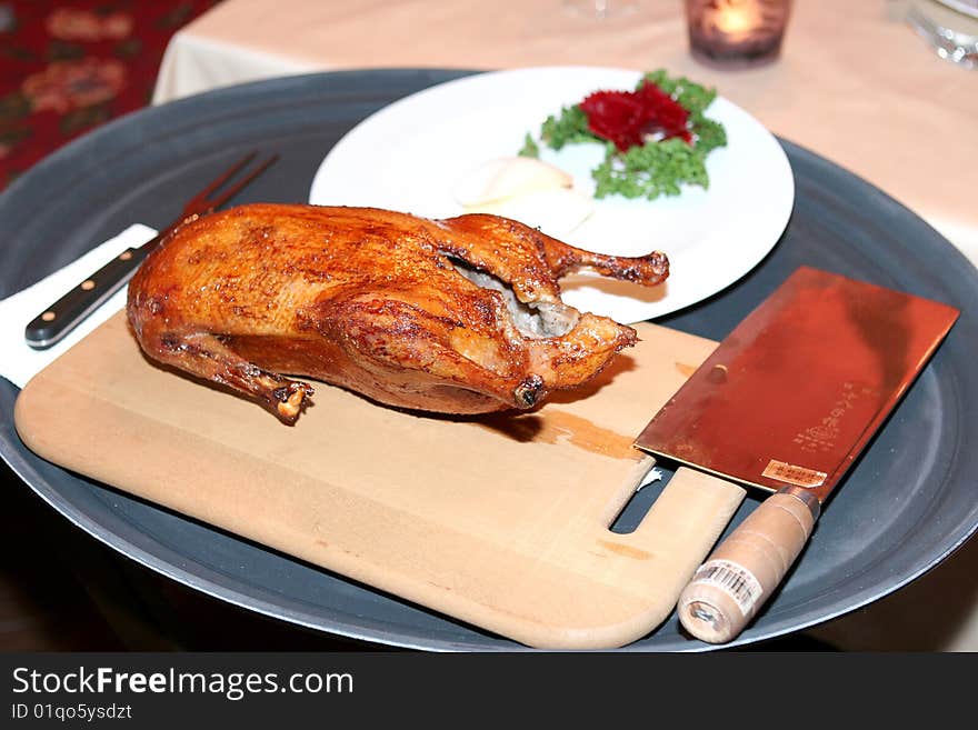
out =
{"type": "MultiPolygon", "coordinates": [[[[542,121],[597,89],[633,89],[638,71],[548,67],[465,77],[406,97],[368,117],[319,167],[309,202],[370,206],[448,218],[463,212],[456,183],[477,166],[516,154],[542,121]]],[[[795,202],[795,179],[784,150],[756,119],[718,97],[707,116],[721,122],[728,144],[707,158],[709,190],[655,201],[620,197],[596,201],[585,223],[560,238],[619,256],[651,250],[669,257],[661,287],[598,277],[563,283],[563,300],[622,322],[653,319],[693,304],[740,279],[780,238],[795,202]]],[[[593,190],[598,144],[540,147],[541,159],[593,190]]],[[[547,232],[546,227],[543,231],[547,232]]]]}

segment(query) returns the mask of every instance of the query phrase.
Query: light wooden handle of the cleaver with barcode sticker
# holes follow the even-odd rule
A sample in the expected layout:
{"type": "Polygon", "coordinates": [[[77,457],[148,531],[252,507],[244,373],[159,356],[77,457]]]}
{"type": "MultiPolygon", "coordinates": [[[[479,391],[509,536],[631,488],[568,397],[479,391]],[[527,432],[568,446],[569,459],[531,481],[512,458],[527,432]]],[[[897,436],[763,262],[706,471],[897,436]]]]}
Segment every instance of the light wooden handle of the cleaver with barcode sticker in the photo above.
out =
{"type": "Polygon", "coordinates": [[[801,487],[768,497],[700,566],[679,596],[679,620],[697,639],[737,638],[808,542],[819,501],[801,487]]]}

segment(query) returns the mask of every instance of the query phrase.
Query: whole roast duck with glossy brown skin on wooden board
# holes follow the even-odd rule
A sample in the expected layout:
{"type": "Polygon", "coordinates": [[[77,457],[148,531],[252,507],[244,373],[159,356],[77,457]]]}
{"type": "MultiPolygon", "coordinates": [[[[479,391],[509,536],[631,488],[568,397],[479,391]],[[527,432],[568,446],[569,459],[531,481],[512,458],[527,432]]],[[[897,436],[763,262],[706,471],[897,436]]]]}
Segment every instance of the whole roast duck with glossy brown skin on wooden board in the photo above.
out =
{"type": "Polygon", "coordinates": [[[152,359],[229,386],[293,422],[312,388],[442,413],[528,409],[636,341],[560,301],[582,267],[653,286],[660,252],[590,253],[489,214],[249,204],[189,219],[129,284],[152,359]]]}

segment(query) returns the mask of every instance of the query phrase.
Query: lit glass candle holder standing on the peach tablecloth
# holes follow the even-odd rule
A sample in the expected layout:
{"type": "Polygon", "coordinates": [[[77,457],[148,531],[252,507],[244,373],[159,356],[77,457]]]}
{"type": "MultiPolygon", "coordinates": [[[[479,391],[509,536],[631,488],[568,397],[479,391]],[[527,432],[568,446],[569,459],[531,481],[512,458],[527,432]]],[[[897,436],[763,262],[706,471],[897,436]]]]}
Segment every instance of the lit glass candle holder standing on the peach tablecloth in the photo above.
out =
{"type": "Polygon", "coordinates": [[[790,0],[686,0],[690,52],[725,68],[770,63],[781,52],[790,10],[790,0]]]}

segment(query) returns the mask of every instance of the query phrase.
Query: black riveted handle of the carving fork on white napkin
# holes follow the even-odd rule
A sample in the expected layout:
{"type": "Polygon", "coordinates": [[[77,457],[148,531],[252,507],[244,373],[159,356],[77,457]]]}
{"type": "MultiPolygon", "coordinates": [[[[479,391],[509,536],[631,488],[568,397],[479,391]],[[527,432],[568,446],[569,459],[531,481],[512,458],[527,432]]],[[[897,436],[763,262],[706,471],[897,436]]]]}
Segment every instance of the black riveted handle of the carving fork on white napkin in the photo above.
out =
{"type": "Polygon", "coordinates": [[[24,330],[27,343],[34,350],[47,350],[73,330],[109,297],[121,289],[150,247],[126,249],[88,279],[38,314],[24,330]]]}

